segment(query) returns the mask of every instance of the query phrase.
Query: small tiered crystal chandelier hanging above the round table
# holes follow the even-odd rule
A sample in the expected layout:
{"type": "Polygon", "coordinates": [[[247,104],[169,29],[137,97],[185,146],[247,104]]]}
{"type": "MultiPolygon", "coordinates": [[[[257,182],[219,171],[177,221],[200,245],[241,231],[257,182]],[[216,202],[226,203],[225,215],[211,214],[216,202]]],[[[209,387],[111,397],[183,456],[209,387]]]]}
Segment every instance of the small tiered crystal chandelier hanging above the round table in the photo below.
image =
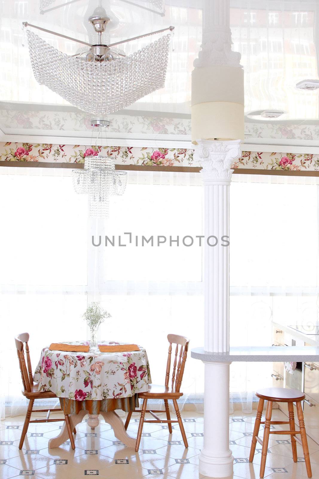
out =
{"type": "MultiPolygon", "coordinates": [[[[99,127],[99,135],[102,137],[102,128],[106,129],[110,122],[91,120],[91,125],[93,128],[99,127]]],[[[72,170],[72,176],[76,193],[88,194],[89,214],[93,218],[109,217],[110,196],[123,194],[128,178],[126,171],[115,170],[114,158],[103,156],[100,152],[87,156],[84,160],[84,169],[72,170]]]]}

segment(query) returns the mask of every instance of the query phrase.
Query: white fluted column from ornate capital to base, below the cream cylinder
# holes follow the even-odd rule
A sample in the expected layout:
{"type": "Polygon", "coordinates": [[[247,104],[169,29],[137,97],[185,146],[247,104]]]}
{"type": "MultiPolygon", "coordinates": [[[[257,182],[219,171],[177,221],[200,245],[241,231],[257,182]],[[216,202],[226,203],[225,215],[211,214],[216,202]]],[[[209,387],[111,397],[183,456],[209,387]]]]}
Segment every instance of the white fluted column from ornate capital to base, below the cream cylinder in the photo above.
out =
{"type": "MultiPolygon", "coordinates": [[[[229,351],[229,187],[231,164],[240,157],[240,140],[197,140],[195,158],[204,184],[204,349],[229,351]],[[213,238],[208,242],[209,237],[213,238]],[[224,238],[223,238],[224,237],[224,238]],[[222,240],[223,239],[223,240],[222,240]]],[[[232,477],[229,448],[229,366],[205,362],[204,447],[199,472],[212,478],[232,477]]]]}

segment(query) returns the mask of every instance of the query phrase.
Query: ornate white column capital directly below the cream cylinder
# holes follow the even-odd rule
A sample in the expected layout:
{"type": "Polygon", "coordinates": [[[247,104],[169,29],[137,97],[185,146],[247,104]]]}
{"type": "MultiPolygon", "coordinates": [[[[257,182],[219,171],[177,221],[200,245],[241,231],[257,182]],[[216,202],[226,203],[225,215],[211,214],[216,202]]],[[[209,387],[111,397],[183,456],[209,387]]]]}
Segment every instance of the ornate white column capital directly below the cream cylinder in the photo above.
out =
{"type": "Polygon", "coordinates": [[[205,184],[229,184],[231,182],[231,164],[241,154],[241,140],[212,141],[197,140],[194,159],[201,166],[201,175],[205,184]]]}

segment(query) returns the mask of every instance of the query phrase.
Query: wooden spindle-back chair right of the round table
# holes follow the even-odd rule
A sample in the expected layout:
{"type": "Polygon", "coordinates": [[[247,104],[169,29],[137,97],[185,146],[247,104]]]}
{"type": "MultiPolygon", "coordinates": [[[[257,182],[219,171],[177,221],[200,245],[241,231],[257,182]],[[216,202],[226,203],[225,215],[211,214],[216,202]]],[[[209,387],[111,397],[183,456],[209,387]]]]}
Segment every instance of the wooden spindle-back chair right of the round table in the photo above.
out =
{"type": "Polygon", "coordinates": [[[178,422],[180,431],[182,433],[183,441],[185,447],[188,447],[187,439],[186,439],[186,434],[183,426],[183,421],[179,412],[178,404],[177,404],[177,399],[183,396],[183,393],[180,392],[180,387],[182,384],[182,379],[183,379],[183,374],[184,374],[184,368],[185,368],[185,363],[186,363],[186,358],[187,358],[187,350],[188,350],[188,343],[189,340],[185,338],[184,336],[178,336],[177,334],[168,334],[167,339],[169,342],[169,348],[168,348],[168,358],[167,358],[167,365],[166,365],[166,375],[165,375],[165,386],[156,386],[154,384],[149,384],[148,386],[148,391],[147,392],[141,392],[139,393],[139,398],[143,399],[143,406],[142,410],[134,410],[130,411],[127,415],[126,422],[125,422],[125,429],[127,429],[129,422],[131,420],[132,412],[140,412],[141,413],[141,419],[139,423],[139,428],[137,432],[137,438],[136,438],[136,444],[135,444],[135,451],[137,452],[140,447],[140,442],[141,442],[141,436],[142,436],[142,431],[143,431],[143,424],[144,422],[161,422],[161,423],[167,423],[168,424],[168,431],[169,433],[172,433],[172,423],[173,422],[178,422]],[[172,379],[171,379],[171,385],[170,383],[170,370],[171,370],[171,356],[172,356],[172,345],[176,345],[175,348],[175,357],[174,357],[174,364],[173,364],[173,369],[172,369],[172,379]],[[178,348],[179,349],[179,354],[178,354],[178,348]],[[146,409],[147,407],[147,400],[148,399],[164,399],[164,404],[165,404],[165,412],[166,412],[166,420],[160,419],[155,412],[163,412],[159,410],[148,410],[146,409]],[[174,408],[176,411],[176,416],[177,420],[172,421],[170,412],[169,412],[169,407],[168,407],[168,399],[173,400],[174,408]],[[155,418],[155,420],[152,421],[145,421],[145,413],[149,412],[152,414],[152,416],[155,418]]]}

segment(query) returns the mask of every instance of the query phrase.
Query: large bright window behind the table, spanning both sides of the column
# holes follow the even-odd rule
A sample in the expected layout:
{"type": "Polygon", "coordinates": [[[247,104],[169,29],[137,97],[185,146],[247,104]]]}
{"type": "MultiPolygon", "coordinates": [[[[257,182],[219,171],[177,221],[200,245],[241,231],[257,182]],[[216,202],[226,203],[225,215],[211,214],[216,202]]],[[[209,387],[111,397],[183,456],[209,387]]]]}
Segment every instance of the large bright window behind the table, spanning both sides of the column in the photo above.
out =
{"type": "MultiPolygon", "coordinates": [[[[110,218],[92,220],[68,171],[40,170],[0,169],[1,350],[11,365],[2,391],[21,390],[14,335],[30,333],[35,367],[50,342],[87,339],[82,314],[93,300],[112,315],[100,338],[145,346],[162,383],[168,332],[203,344],[202,250],[182,242],[202,234],[200,175],[130,172],[110,218]]],[[[318,188],[315,179],[233,175],[231,345],[270,345],[272,320],[317,319],[318,188]]],[[[270,374],[269,364],[231,365],[231,390],[270,385],[270,374]]],[[[203,365],[190,355],[184,390],[203,392],[203,365]]]]}

